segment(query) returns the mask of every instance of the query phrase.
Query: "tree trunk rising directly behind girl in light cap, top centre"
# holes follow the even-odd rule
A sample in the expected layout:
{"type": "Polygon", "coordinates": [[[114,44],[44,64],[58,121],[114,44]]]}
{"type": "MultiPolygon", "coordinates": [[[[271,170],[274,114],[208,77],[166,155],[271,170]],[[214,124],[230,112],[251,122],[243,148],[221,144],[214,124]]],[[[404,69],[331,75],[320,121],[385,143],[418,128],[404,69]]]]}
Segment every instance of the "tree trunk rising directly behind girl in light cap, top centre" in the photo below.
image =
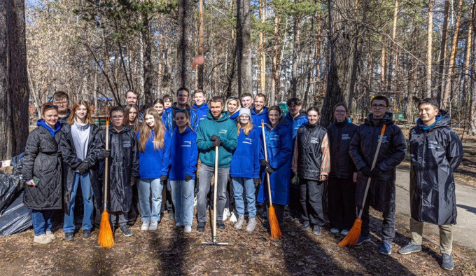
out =
{"type": "Polygon", "coordinates": [[[237,0],[238,96],[253,91],[251,76],[250,0],[237,0]]]}

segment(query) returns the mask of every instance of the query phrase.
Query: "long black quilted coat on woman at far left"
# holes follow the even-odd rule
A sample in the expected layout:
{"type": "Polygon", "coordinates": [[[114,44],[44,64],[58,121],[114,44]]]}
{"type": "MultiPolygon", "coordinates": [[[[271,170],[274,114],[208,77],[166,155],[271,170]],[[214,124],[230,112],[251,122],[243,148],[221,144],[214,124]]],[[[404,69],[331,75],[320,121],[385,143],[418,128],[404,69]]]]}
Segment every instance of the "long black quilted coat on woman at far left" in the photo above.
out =
{"type": "MultiPolygon", "coordinates": [[[[39,123],[38,123],[39,125],[39,123]]],[[[36,187],[25,184],[23,202],[29,209],[50,210],[62,207],[61,150],[62,132],[55,137],[43,126],[29,133],[23,162],[23,179],[38,178],[36,187]]]]}

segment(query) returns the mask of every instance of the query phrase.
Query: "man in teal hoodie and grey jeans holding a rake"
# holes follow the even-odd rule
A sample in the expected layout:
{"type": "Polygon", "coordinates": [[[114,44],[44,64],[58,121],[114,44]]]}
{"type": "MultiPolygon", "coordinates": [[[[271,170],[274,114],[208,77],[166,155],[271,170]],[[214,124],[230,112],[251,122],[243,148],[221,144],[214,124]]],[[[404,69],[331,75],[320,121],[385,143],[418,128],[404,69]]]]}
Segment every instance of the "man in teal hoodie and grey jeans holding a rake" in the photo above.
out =
{"type": "Polygon", "coordinates": [[[223,111],[225,102],[223,97],[215,96],[211,99],[210,110],[207,111],[207,119],[202,120],[197,131],[197,146],[200,151],[200,179],[197,193],[197,230],[205,230],[207,221],[207,193],[210,191],[211,177],[215,170],[215,148],[218,151],[218,185],[217,186],[217,225],[225,229],[223,223],[223,209],[226,202],[226,183],[232,152],[237,147],[237,130],[235,123],[228,118],[228,112],[223,111]]]}

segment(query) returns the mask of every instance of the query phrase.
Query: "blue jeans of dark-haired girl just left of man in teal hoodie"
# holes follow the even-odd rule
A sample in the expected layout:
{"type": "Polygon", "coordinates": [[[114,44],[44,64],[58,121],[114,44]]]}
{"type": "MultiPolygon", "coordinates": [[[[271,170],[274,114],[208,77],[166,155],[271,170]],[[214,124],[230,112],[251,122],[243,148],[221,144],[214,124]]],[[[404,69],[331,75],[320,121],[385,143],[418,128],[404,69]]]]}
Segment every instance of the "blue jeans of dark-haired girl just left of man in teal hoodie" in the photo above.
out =
{"type": "Polygon", "coordinates": [[[169,181],[172,187],[172,202],[175,207],[175,221],[181,226],[193,224],[193,191],[195,179],[169,181]]]}

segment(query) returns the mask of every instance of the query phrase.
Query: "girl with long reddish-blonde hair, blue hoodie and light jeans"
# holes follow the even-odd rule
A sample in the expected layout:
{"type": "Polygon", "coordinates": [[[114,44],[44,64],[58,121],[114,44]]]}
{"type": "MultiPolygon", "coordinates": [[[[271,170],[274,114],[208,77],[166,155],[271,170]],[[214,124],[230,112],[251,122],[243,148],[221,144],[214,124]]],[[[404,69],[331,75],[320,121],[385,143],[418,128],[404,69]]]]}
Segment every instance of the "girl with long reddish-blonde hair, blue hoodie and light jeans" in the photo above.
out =
{"type": "Polygon", "coordinates": [[[165,144],[169,133],[160,119],[159,113],[147,109],[144,123],[137,132],[139,149],[139,205],[141,206],[141,230],[157,230],[162,206],[162,180],[167,179],[168,158],[165,156],[165,144]],[[162,177],[165,176],[165,177],[162,177]],[[152,202],[150,200],[152,193],[152,202]]]}

